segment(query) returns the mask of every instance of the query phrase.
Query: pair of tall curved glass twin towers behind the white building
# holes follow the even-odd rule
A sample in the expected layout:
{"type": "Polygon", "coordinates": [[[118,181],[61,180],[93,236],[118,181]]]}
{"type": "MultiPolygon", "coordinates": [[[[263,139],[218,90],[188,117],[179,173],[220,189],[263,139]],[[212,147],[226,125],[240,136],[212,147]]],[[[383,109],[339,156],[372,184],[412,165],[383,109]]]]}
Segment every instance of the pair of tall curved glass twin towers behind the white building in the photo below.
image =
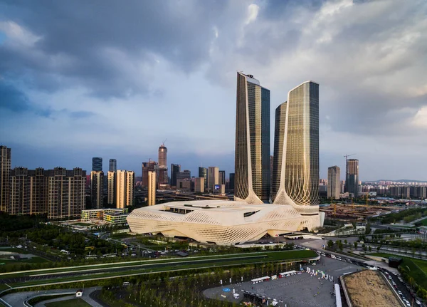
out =
{"type": "Polygon", "coordinates": [[[319,84],[298,85],[276,108],[270,177],[270,90],[237,73],[235,173],[238,201],[295,208],[319,203],[319,84]]]}

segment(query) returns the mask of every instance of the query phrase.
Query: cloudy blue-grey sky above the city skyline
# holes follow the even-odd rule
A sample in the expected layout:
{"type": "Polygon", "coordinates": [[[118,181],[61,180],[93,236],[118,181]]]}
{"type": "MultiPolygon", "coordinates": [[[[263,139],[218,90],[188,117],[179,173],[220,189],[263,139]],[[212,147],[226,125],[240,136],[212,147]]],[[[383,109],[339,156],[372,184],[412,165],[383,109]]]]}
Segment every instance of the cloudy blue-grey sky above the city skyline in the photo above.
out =
{"type": "Polygon", "coordinates": [[[320,83],[320,177],[427,180],[427,1],[0,0],[0,144],[12,167],[117,159],[234,170],[236,72],[274,110],[320,83]]]}

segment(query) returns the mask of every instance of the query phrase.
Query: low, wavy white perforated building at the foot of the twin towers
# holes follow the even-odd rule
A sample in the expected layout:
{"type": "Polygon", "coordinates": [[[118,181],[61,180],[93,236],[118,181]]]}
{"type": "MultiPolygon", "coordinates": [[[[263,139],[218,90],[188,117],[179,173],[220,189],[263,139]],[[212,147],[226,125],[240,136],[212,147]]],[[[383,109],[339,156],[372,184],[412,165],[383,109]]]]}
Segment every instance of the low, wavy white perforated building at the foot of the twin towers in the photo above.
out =
{"type": "MultiPolygon", "coordinates": [[[[298,206],[308,207],[308,206],[298,206]]],[[[290,205],[248,204],[223,200],[169,202],[135,209],[127,223],[137,234],[184,236],[204,243],[231,245],[323,224],[318,206],[304,215],[290,205]],[[312,212],[317,208],[316,212],[312,212]]],[[[305,209],[305,208],[301,208],[305,209]]],[[[305,211],[305,210],[303,210],[305,211]]]]}

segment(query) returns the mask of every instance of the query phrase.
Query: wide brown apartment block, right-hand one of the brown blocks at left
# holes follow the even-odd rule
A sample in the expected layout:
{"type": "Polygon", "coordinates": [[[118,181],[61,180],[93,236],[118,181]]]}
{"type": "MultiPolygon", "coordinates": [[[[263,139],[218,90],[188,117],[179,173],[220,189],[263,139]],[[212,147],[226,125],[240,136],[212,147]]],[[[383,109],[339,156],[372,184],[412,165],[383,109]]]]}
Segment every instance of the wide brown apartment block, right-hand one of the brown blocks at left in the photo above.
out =
{"type": "Polygon", "coordinates": [[[78,167],[73,170],[55,167],[45,175],[48,219],[80,217],[85,209],[86,171],[78,167]]]}

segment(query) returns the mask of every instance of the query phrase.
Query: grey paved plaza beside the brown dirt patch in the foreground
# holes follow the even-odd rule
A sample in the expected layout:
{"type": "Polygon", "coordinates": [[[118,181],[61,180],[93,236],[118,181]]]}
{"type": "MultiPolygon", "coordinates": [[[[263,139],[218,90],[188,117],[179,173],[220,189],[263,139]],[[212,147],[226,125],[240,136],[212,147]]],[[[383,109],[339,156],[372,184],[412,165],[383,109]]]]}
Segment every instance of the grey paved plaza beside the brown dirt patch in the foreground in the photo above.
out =
{"type": "MultiPolygon", "coordinates": [[[[204,295],[209,298],[238,302],[243,298],[243,291],[248,291],[270,298],[270,303],[275,298],[279,302],[276,307],[330,307],[336,306],[335,296],[331,293],[334,293],[334,283],[338,281],[338,277],[344,273],[362,269],[347,261],[339,261],[323,256],[320,257],[320,261],[316,266],[309,265],[309,267],[333,276],[334,281],[322,279],[320,278],[321,275],[311,276],[305,272],[262,283],[253,284],[251,281],[246,281],[239,284],[210,288],[204,291],[204,295]],[[226,290],[228,288],[230,291],[224,291],[224,288],[226,290]],[[240,294],[239,299],[233,298],[233,289],[240,294]]],[[[306,269],[307,266],[303,266],[303,268],[306,269]]]]}

